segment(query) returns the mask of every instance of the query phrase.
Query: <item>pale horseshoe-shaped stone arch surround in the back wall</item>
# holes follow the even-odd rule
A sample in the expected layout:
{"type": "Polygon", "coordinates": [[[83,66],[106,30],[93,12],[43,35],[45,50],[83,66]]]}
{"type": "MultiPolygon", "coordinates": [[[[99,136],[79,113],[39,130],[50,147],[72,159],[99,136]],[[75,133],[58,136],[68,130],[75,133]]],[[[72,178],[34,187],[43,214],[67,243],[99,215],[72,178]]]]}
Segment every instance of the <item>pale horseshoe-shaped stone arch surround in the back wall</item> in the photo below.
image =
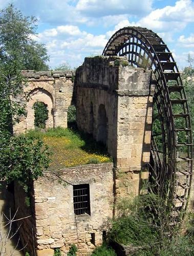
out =
{"type": "Polygon", "coordinates": [[[52,95],[42,89],[36,88],[32,90],[29,94],[29,101],[27,102],[27,118],[26,118],[26,129],[34,129],[34,108],[33,105],[36,101],[44,102],[48,108],[48,119],[46,121],[46,129],[54,127],[53,118],[53,97],[52,95]]]}

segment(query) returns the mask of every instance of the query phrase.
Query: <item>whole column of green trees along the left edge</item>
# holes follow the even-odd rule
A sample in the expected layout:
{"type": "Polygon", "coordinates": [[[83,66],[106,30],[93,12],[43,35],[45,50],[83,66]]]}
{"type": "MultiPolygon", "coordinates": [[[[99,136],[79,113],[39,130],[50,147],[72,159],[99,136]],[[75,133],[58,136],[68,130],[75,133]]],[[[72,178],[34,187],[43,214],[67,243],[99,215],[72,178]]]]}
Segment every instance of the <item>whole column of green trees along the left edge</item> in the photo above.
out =
{"type": "MultiPolygon", "coordinates": [[[[3,10],[0,17],[0,181],[8,184],[18,181],[27,193],[31,181],[41,176],[50,162],[48,148],[40,139],[13,135],[13,124],[19,116],[26,114],[18,95],[26,83],[21,74],[21,69],[27,67],[25,56],[29,51],[26,49],[34,47],[34,42],[29,39],[34,29],[34,20],[23,17],[12,5],[3,10]]],[[[37,61],[32,58],[30,68],[38,62],[41,65],[36,67],[45,65],[42,56],[33,57],[37,61]]],[[[30,55],[28,60],[30,63],[30,55]]]]}

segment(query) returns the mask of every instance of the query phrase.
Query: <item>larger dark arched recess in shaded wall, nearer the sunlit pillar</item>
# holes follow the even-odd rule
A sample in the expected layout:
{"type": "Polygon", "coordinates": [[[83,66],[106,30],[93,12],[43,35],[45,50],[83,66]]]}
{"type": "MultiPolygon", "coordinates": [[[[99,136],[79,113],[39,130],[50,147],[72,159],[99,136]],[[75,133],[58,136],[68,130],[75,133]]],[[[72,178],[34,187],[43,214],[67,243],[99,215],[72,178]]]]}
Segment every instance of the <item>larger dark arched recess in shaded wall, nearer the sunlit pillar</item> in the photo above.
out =
{"type": "Polygon", "coordinates": [[[104,104],[99,105],[97,122],[97,141],[107,145],[108,118],[104,104]]]}

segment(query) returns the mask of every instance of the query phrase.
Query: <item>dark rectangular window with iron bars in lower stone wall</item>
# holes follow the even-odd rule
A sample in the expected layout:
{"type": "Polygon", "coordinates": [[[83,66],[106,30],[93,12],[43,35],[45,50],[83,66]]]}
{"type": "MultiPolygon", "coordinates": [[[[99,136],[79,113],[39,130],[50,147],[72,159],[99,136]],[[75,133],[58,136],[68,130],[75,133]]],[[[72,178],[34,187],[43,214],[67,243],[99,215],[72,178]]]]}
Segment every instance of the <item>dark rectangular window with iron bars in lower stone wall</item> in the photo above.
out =
{"type": "Polygon", "coordinates": [[[90,186],[79,184],[73,186],[73,205],[75,215],[90,215],[90,186]]]}

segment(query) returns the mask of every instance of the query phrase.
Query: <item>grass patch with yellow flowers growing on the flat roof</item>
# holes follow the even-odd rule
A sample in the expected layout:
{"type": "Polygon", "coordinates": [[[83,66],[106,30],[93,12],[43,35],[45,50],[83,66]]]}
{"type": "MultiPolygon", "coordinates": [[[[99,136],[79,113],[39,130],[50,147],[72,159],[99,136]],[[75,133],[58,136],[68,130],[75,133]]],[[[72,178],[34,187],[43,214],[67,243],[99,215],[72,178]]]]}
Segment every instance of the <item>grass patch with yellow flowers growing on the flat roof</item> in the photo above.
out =
{"type": "Polygon", "coordinates": [[[95,142],[90,136],[71,129],[49,129],[47,132],[29,131],[29,135],[41,138],[49,145],[52,163],[51,170],[89,163],[111,162],[104,151],[104,146],[95,142]]]}

